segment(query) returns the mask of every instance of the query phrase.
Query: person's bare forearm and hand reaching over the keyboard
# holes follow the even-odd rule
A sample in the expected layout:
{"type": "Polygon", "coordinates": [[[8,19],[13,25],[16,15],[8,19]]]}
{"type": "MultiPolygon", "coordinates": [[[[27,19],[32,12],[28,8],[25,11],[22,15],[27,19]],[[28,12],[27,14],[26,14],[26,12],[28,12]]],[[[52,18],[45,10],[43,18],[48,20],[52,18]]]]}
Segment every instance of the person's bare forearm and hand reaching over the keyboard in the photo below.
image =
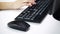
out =
{"type": "Polygon", "coordinates": [[[0,2],[0,9],[18,9],[24,5],[32,6],[36,0],[17,0],[16,2],[0,2]]]}

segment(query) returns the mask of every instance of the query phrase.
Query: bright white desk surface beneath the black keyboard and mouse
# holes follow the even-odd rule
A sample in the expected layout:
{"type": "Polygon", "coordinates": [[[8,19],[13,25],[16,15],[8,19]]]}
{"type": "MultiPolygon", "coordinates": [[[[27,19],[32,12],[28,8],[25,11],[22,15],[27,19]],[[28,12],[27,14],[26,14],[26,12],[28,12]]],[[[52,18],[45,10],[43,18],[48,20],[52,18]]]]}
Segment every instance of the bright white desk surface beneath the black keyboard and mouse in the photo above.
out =
{"type": "Polygon", "coordinates": [[[27,32],[11,29],[7,26],[22,10],[0,11],[0,34],[60,34],[60,21],[55,20],[52,15],[47,15],[41,23],[31,23],[27,32]]]}

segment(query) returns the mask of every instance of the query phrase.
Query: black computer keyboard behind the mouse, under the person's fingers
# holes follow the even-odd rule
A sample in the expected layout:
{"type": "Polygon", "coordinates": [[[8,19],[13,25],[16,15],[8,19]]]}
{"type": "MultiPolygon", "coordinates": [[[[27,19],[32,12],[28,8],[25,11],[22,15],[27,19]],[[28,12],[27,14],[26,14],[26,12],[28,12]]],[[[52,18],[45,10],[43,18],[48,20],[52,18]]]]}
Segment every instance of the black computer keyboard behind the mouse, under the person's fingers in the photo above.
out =
{"type": "Polygon", "coordinates": [[[36,4],[26,8],[21,14],[19,14],[15,20],[29,21],[29,22],[41,22],[47,15],[52,6],[53,0],[36,0],[36,4]]]}

